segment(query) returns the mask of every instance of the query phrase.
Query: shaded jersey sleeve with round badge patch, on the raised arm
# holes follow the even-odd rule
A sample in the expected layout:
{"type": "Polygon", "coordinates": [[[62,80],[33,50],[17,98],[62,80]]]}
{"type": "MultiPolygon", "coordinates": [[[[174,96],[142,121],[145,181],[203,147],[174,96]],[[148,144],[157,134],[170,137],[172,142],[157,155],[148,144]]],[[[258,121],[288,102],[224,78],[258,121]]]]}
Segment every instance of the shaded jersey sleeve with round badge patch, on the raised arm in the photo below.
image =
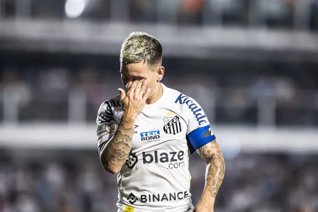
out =
{"type": "Polygon", "coordinates": [[[101,104],[97,119],[97,140],[98,140],[98,147],[103,142],[111,139],[114,133],[117,130],[118,123],[115,120],[114,112],[112,110],[111,104],[106,101],[101,104]]]}

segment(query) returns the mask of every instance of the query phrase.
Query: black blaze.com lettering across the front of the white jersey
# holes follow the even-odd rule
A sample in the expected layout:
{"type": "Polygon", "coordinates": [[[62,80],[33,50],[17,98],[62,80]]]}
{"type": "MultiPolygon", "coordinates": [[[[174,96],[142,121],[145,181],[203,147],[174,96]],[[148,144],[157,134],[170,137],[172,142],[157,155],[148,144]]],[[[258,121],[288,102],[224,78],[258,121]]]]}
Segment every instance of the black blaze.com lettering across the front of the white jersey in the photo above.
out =
{"type": "Polygon", "coordinates": [[[184,152],[163,152],[158,154],[158,151],[154,151],[154,154],[142,152],[142,163],[164,163],[167,165],[167,169],[182,168],[185,167],[183,161],[184,152]]]}

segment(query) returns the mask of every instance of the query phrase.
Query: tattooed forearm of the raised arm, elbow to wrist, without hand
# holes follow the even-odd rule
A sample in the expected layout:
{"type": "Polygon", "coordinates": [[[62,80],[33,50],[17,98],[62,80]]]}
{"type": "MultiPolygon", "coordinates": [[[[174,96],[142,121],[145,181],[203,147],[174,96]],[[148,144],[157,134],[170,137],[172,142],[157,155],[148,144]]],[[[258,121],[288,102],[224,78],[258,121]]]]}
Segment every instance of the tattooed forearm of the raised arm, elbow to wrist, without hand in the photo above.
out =
{"type": "Polygon", "coordinates": [[[107,172],[116,174],[125,164],[130,152],[134,128],[135,119],[124,113],[113,138],[102,147],[100,153],[100,161],[107,172]]]}

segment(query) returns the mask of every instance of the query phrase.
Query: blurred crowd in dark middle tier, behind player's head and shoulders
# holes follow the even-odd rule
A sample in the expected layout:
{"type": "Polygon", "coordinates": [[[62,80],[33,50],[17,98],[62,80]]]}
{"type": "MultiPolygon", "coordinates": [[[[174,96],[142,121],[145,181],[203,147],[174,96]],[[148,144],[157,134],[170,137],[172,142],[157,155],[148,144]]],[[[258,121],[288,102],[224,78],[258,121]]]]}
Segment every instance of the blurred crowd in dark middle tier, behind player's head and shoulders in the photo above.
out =
{"type": "MultiPolygon", "coordinates": [[[[115,56],[28,55],[0,59],[0,120],[93,123],[122,87],[115,56]]],[[[211,123],[318,126],[315,64],[167,58],[163,65],[162,82],[195,98],[211,123]]]]}

